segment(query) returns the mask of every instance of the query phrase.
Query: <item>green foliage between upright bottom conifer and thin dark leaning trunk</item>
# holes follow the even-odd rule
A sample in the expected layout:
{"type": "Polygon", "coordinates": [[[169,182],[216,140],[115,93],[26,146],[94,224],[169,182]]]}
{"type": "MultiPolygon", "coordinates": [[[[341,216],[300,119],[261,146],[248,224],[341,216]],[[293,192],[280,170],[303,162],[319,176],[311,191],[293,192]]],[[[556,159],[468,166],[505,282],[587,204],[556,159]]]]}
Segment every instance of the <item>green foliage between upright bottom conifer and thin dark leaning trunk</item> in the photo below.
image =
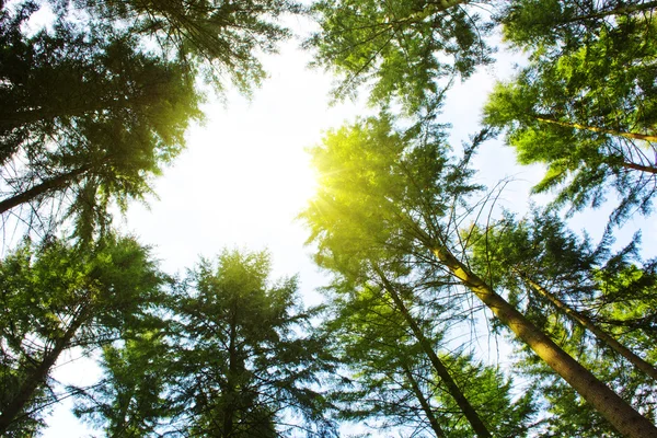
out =
{"type": "Polygon", "coordinates": [[[376,286],[349,287],[338,293],[323,327],[333,354],[343,364],[332,391],[336,417],[356,423],[374,420],[380,428],[400,426],[430,433],[430,422],[418,400],[422,396],[435,405],[429,401],[434,391],[430,364],[403,316],[376,286]],[[414,393],[408,373],[422,388],[420,394],[414,393]]]}

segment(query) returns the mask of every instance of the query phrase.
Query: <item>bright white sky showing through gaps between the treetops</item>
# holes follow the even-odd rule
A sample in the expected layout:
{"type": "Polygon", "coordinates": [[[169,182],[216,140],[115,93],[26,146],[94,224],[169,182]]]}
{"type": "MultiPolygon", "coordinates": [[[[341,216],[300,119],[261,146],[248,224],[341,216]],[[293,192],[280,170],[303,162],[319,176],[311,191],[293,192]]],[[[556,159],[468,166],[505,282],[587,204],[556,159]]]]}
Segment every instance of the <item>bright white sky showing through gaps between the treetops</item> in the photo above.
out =
{"type": "MultiPolygon", "coordinates": [[[[293,23],[300,33],[309,24],[293,23]]],[[[154,182],[158,199],[149,207],[130,206],[117,220],[125,232],[152,246],[168,273],[184,273],[200,256],[211,257],[222,249],[268,250],[273,257],[273,278],[299,275],[300,292],[307,306],[316,304],[315,291],[326,284],[304,246],[308,232],[295,220],[314,189],[314,176],[306,149],[321,141],[323,134],[372,111],[362,101],[330,105],[328,92],[334,78],[307,68],[308,53],[299,42],[284,44],[280,54],[263,58],[269,78],[255,90],[252,100],[228,91],[223,101],[205,104],[207,120],[187,135],[187,149],[154,182]]],[[[452,147],[476,131],[481,106],[496,79],[507,78],[520,54],[502,51],[498,62],[475,73],[465,83],[456,83],[448,95],[442,118],[453,125],[452,147]]],[[[542,168],[515,164],[514,152],[499,142],[488,142],[475,158],[477,178],[494,185],[512,178],[500,196],[499,205],[516,211],[529,207],[529,187],[538,182],[542,168]]],[[[534,198],[534,201],[543,201],[534,198]]],[[[573,228],[587,228],[596,237],[607,216],[576,216],[573,228]]],[[[637,219],[623,231],[644,228],[648,252],[655,252],[655,223],[637,219]]],[[[621,240],[622,240],[621,239],[621,240]]],[[[655,255],[655,254],[652,254],[655,255]]],[[[92,383],[97,368],[89,360],[67,355],[56,378],[77,384],[92,383]]],[[[70,404],[55,408],[44,437],[83,437],[90,430],[69,413],[70,404]]]]}

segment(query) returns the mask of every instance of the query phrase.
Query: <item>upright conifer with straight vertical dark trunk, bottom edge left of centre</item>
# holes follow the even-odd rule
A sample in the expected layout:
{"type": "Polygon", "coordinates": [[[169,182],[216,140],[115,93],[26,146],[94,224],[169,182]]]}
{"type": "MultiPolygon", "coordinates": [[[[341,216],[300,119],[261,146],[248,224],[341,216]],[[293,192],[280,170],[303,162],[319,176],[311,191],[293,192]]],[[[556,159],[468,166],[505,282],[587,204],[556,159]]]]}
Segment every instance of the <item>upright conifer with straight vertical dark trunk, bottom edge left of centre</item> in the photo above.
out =
{"type": "Polygon", "coordinates": [[[309,333],[312,312],[295,306],[296,278],[269,285],[269,270],[266,253],[224,251],[188,277],[175,338],[183,372],[171,395],[196,434],[277,436],[286,413],[301,414],[309,435],[331,433],[312,389],[326,366],[321,343],[296,334],[309,333]]]}

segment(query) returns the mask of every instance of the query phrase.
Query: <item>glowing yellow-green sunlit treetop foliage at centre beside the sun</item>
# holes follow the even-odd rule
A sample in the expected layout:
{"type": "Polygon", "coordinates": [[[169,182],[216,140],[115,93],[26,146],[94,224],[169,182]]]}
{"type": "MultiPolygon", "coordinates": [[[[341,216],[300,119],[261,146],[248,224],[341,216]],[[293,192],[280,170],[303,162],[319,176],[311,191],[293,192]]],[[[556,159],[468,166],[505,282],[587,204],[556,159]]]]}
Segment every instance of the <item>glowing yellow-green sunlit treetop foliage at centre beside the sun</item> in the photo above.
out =
{"type": "Polygon", "coordinates": [[[452,201],[479,188],[447,158],[440,127],[395,130],[387,115],[328,132],[311,154],[320,186],[301,217],[315,261],[337,272],[358,274],[370,261],[406,273],[410,254],[427,256],[427,234],[449,232],[441,221],[456,214],[452,201]]]}

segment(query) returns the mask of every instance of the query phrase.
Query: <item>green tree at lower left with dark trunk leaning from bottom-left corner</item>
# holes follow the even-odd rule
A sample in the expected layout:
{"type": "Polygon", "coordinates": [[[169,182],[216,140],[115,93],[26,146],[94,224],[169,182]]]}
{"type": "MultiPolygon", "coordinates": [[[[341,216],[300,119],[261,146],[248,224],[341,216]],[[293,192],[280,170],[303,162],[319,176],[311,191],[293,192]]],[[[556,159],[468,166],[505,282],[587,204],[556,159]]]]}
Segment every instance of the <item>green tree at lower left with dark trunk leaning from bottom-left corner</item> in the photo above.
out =
{"type": "Polygon", "coordinates": [[[145,318],[162,277],[148,250],[108,235],[95,249],[26,241],[0,265],[0,434],[38,413],[39,395],[65,350],[94,348],[145,318]],[[9,380],[8,380],[9,379],[9,380]]]}

